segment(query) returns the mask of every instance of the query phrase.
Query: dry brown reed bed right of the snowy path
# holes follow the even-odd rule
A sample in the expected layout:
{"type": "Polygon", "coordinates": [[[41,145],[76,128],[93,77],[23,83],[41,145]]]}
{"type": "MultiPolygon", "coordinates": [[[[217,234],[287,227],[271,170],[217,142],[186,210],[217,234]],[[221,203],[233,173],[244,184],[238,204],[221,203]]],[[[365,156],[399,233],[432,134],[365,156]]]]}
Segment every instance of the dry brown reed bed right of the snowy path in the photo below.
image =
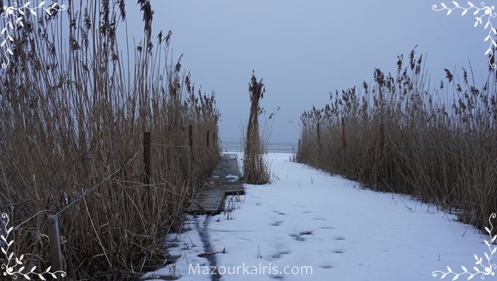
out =
{"type": "MultiPolygon", "coordinates": [[[[381,192],[412,194],[478,228],[497,211],[497,78],[477,87],[472,72],[445,71],[430,89],[422,55],[397,74],[330,94],[301,116],[297,161],[381,192]]],[[[353,199],[352,199],[353,200],[353,199]]]]}

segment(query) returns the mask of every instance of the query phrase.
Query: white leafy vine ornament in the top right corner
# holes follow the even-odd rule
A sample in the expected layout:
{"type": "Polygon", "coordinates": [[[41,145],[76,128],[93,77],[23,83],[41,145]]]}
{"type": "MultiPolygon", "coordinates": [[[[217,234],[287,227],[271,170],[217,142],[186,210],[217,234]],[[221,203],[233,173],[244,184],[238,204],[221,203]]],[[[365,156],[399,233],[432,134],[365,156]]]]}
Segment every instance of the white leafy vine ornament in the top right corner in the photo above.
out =
{"type": "Polygon", "coordinates": [[[449,8],[446,4],[443,2],[440,3],[440,6],[442,8],[439,8],[437,5],[432,6],[432,10],[434,11],[447,11],[447,16],[449,16],[452,11],[454,10],[461,10],[461,16],[466,15],[468,11],[471,11],[473,13],[473,16],[475,16],[475,23],[474,27],[479,26],[480,24],[483,26],[484,21],[484,29],[487,30],[488,28],[488,34],[486,35],[486,38],[484,39],[485,42],[490,40],[490,43],[488,43],[488,49],[485,52],[485,55],[490,55],[490,59],[488,60],[488,65],[492,68],[496,68],[496,63],[492,62],[492,57],[493,57],[493,48],[497,48],[497,42],[496,40],[493,40],[492,36],[497,35],[497,29],[493,27],[492,24],[492,19],[497,17],[497,13],[494,12],[495,6],[486,6],[485,2],[481,2],[479,8],[478,6],[475,6],[471,1],[467,1],[468,7],[460,6],[457,1],[452,1],[452,4],[454,5],[452,8],[449,8]],[[472,11],[474,9],[474,11],[472,11]],[[480,16],[481,14],[481,16],[480,16]]]}

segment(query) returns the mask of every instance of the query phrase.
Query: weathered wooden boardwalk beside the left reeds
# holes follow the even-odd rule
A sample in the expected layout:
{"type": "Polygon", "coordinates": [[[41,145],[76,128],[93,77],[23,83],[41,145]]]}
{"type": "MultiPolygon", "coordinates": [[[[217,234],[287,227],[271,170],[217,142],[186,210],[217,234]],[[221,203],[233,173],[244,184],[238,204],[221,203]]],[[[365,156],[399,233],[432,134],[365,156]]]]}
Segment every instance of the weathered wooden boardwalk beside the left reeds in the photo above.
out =
{"type": "Polygon", "coordinates": [[[211,177],[207,180],[187,208],[189,214],[215,215],[224,211],[224,200],[228,195],[245,194],[244,184],[236,154],[222,155],[211,177]]]}

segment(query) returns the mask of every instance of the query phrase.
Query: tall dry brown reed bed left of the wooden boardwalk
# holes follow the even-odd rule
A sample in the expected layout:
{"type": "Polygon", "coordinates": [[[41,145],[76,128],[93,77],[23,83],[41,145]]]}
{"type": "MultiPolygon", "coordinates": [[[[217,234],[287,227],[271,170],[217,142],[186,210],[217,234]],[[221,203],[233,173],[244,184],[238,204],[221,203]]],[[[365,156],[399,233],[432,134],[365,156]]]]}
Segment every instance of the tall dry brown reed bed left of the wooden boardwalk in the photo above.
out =
{"type": "Polygon", "coordinates": [[[195,187],[219,161],[214,94],[195,89],[170,56],[171,33],[153,38],[151,5],[138,5],[144,34],[133,47],[116,38],[124,0],[27,14],[0,70],[0,211],[14,226],[10,250],[48,268],[46,216],[58,214],[72,280],[124,280],[167,263],[163,238],[180,231],[195,187]]]}

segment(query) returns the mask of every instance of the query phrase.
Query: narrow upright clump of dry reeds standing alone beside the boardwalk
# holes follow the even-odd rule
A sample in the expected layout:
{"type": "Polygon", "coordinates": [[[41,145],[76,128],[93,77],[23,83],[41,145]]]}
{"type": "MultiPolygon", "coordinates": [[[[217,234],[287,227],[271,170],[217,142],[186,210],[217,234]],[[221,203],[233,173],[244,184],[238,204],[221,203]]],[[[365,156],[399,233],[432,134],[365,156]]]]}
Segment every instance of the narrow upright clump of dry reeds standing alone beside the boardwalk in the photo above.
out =
{"type": "Polygon", "coordinates": [[[264,96],[266,89],[262,79],[257,82],[256,75],[252,75],[249,84],[251,100],[249,125],[244,138],[244,180],[249,184],[266,184],[270,180],[270,172],[264,154],[266,152],[267,139],[261,139],[259,132],[259,114],[261,107],[259,102],[264,96]]]}

